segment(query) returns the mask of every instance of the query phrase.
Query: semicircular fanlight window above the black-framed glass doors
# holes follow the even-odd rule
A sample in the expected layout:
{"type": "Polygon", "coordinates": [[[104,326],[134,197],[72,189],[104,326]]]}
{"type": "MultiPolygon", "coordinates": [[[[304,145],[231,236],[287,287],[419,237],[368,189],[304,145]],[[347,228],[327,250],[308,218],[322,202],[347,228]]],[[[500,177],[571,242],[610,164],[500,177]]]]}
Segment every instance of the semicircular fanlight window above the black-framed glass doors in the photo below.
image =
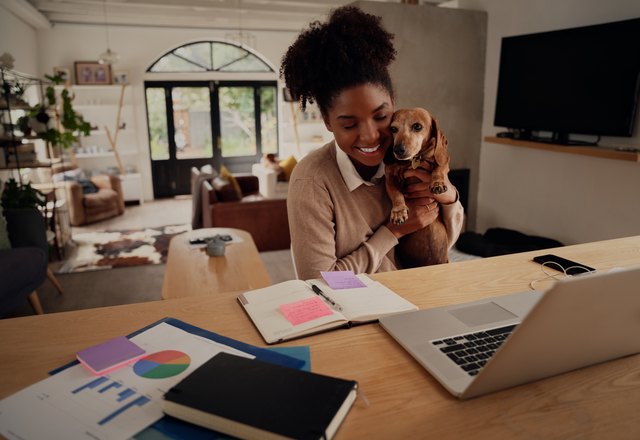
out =
{"type": "Polygon", "coordinates": [[[221,41],[190,43],[161,56],[148,72],[273,72],[242,46],[221,41]]]}

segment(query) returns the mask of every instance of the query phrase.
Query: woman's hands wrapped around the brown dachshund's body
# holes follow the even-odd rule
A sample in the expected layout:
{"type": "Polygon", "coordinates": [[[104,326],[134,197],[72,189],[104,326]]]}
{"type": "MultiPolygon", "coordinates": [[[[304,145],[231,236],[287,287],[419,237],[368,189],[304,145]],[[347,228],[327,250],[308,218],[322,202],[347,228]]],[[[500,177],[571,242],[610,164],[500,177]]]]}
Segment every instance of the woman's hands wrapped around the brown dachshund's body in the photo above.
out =
{"type": "Polygon", "coordinates": [[[409,207],[409,219],[401,225],[389,223],[387,228],[400,238],[404,235],[422,229],[438,218],[439,204],[448,205],[454,203],[458,197],[457,192],[449,178],[446,177],[447,191],[442,194],[433,194],[431,186],[431,174],[423,169],[409,168],[404,173],[405,179],[411,179],[414,183],[407,185],[404,191],[405,203],[409,207]]]}

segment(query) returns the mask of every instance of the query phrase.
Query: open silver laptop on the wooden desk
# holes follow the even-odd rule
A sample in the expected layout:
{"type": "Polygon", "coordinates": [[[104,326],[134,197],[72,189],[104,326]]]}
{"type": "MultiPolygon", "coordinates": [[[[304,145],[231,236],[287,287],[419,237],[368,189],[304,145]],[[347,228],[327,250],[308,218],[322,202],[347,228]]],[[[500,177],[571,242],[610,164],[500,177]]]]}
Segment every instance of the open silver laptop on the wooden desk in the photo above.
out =
{"type": "Polygon", "coordinates": [[[640,352],[640,268],[387,316],[382,327],[467,399],[640,352]]]}

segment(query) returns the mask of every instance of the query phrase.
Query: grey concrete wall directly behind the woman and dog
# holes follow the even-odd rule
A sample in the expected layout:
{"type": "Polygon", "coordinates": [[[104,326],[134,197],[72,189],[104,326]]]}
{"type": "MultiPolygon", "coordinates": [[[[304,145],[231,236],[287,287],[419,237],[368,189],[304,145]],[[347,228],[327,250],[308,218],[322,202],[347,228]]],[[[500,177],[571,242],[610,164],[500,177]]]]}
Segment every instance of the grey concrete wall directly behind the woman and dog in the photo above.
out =
{"type": "Polygon", "coordinates": [[[451,168],[469,168],[467,227],[474,229],[482,128],[487,15],[482,11],[357,2],[395,34],[396,107],[424,107],[449,139],[451,168]]]}

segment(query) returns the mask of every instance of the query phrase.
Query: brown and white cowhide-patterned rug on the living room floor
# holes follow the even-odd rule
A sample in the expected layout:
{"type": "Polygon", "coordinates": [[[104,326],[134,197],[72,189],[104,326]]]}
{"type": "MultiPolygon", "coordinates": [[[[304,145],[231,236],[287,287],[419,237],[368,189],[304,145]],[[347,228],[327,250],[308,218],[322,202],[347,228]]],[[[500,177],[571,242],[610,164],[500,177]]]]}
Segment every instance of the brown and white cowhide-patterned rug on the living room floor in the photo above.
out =
{"type": "Polygon", "coordinates": [[[189,230],[191,225],[186,224],[74,234],[75,251],[57,273],[162,264],[167,260],[169,241],[189,230]]]}

